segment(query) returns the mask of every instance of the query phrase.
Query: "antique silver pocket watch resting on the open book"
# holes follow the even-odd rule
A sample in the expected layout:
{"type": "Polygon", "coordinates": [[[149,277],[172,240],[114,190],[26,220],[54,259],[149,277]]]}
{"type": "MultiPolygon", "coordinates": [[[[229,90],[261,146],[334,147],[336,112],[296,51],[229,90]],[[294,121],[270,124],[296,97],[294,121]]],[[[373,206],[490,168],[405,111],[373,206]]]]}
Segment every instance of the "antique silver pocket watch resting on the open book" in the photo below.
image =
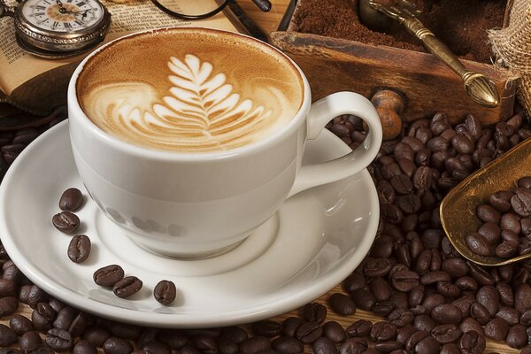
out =
{"type": "Polygon", "coordinates": [[[16,8],[0,4],[3,16],[14,19],[19,47],[41,58],[91,50],[111,26],[111,13],[98,0],[23,0],[16,8]]]}

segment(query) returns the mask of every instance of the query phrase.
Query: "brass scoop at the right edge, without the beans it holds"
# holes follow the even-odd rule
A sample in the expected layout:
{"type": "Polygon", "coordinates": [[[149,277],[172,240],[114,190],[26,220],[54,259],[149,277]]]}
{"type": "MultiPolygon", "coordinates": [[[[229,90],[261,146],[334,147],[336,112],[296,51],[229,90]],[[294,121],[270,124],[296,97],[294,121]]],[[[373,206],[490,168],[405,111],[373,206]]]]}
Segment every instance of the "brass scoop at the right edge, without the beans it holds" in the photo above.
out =
{"type": "Polygon", "coordinates": [[[520,142],[512,150],[471,174],[444,197],[440,208],[443,229],[451,244],[463,257],[481,266],[504,266],[531,259],[531,254],[514,258],[479,256],[465,242],[466,235],[477,231],[481,226],[480,219],[476,217],[476,208],[486,203],[491,194],[503,189],[513,189],[520,178],[529,175],[531,139],[520,142]]]}

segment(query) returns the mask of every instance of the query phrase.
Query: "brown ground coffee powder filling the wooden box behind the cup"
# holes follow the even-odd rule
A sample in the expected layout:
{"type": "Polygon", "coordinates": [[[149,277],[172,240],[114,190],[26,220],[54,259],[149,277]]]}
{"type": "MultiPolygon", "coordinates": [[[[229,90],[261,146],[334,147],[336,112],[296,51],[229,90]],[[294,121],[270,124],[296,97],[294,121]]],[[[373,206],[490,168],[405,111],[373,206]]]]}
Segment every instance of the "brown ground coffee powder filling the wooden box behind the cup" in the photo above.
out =
{"type": "MultiPolygon", "coordinates": [[[[491,62],[487,30],[502,27],[505,0],[411,1],[422,11],[419,19],[459,57],[491,62]]],[[[293,18],[297,32],[426,51],[405,29],[388,35],[365,27],[358,18],[358,0],[301,0],[299,3],[293,18]]]]}

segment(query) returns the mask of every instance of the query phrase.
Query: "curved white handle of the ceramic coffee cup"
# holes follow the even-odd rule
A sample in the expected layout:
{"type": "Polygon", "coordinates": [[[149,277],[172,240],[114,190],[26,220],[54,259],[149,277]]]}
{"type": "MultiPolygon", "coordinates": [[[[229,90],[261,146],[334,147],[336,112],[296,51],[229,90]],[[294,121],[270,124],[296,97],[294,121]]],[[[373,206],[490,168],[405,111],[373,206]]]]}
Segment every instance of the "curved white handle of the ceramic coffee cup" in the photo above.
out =
{"type": "Polygon", "coordinates": [[[321,184],[339,181],[358,173],[368,166],[381,147],[381,121],[373,104],[354,92],[337,92],[312,104],[307,124],[307,138],[315,139],[327,123],[342,114],[352,114],[363,119],[369,133],[358,148],[342,158],[315,165],[302,165],[288,196],[321,184]]]}

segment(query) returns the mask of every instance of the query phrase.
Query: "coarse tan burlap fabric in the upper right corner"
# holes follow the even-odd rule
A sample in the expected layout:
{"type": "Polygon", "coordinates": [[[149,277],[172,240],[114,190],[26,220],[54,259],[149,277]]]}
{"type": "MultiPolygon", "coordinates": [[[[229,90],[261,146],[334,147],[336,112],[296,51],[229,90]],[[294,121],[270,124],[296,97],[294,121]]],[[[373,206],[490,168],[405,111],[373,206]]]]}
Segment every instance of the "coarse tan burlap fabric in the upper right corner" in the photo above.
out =
{"type": "Polygon", "coordinates": [[[513,0],[509,26],[489,30],[494,53],[519,77],[517,95],[531,118],[531,1],[513,0]]]}

